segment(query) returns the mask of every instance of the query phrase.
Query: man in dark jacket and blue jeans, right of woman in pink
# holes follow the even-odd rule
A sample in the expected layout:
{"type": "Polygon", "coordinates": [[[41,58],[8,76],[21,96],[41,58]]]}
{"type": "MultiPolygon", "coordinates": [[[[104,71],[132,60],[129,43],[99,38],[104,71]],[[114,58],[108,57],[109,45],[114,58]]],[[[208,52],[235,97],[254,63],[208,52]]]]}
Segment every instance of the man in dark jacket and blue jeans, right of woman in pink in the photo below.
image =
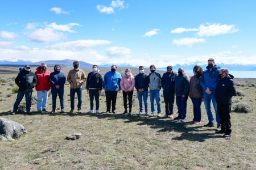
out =
{"type": "Polygon", "coordinates": [[[150,79],[146,73],[144,73],[144,66],[139,66],[139,74],[135,76],[135,88],[137,90],[138,100],[139,100],[139,113],[138,116],[141,116],[143,114],[143,105],[142,105],[142,99],[144,101],[144,107],[145,107],[145,113],[146,116],[149,116],[148,114],[148,84],[150,82],[150,79]]]}

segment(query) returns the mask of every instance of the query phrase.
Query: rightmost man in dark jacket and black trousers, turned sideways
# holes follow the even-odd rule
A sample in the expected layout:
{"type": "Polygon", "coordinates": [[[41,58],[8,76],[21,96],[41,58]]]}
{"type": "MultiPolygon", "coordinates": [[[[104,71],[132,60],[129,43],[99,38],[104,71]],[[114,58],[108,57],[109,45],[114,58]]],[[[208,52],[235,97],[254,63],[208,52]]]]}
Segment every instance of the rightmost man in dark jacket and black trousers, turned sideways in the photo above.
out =
{"type": "Polygon", "coordinates": [[[231,136],[231,104],[232,96],[236,96],[236,87],[233,81],[234,76],[229,74],[228,69],[221,69],[218,73],[220,79],[216,84],[215,97],[217,101],[218,114],[221,120],[221,130],[217,134],[224,134],[223,137],[231,136]]]}

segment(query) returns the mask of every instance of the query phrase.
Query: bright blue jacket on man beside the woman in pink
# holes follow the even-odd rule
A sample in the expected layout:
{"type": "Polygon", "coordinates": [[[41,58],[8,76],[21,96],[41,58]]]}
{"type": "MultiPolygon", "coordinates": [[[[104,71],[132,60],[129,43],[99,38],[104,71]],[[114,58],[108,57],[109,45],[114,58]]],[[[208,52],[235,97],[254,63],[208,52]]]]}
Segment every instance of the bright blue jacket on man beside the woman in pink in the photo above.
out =
{"type": "Polygon", "coordinates": [[[117,71],[109,71],[104,75],[103,88],[106,88],[106,91],[117,91],[121,90],[120,82],[122,76],[117,71]]]}

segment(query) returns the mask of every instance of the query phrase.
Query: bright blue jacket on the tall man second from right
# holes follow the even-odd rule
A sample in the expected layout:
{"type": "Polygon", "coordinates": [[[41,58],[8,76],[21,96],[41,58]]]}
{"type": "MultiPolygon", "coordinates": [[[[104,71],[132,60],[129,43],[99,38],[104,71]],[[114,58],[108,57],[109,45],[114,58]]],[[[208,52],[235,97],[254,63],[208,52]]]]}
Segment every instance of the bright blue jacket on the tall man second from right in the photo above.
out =
{"type": "Polygon", "coordinates": [[[203,75],[200,79],[200,84],[203,88],[204,94],[207,94],[205,90],[207,90],[207,87],[209,90],[214,94],[216,89],[216,83],[218,80],[218,72],[220,72],[220,67],[215,65],[212,68],[212,71],[210,71],[209,67],[207,66],[207,70],[204,70],[203,75]]]}

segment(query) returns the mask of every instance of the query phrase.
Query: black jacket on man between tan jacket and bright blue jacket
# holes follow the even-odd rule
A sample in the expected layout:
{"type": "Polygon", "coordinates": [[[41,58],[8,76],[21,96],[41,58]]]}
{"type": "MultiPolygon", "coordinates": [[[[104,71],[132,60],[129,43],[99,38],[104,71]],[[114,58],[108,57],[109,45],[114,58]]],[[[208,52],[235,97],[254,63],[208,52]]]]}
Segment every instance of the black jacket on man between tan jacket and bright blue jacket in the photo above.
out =
{"type": "Polygon", "coordinates": [[[90,72],[86,79],[86,89],[89,88],[98,88],[102,90],[102,76],[100,73],[90,72]]]}

